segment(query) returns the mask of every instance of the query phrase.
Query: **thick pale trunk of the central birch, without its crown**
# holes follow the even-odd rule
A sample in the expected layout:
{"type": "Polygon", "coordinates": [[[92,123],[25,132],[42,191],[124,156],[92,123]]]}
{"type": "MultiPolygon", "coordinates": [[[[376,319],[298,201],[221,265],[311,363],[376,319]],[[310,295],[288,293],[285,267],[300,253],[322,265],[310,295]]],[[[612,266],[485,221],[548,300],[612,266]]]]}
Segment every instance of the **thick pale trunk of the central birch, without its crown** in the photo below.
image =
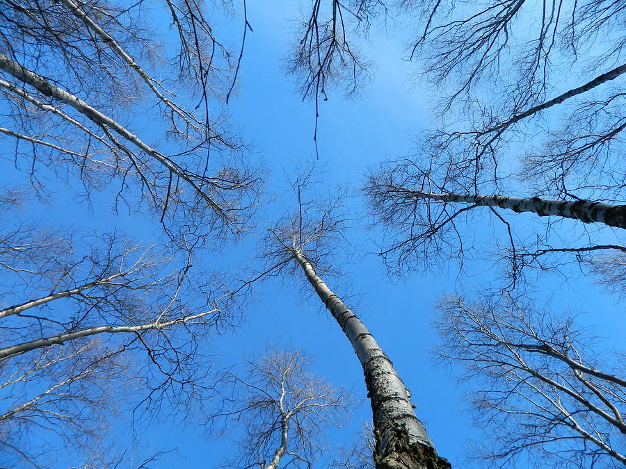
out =
{"type": "Polygon", "coordinates": [[[332,293],[316,274],[310,261],[300,253],[296,252],[295,256],[317,295],[348,336],[363,367],[374,414],[376,468],[450,468],[450,463],[435,452],[424,425],[415,416],[408,389],[374,336],[342,300],[332,293]]]}

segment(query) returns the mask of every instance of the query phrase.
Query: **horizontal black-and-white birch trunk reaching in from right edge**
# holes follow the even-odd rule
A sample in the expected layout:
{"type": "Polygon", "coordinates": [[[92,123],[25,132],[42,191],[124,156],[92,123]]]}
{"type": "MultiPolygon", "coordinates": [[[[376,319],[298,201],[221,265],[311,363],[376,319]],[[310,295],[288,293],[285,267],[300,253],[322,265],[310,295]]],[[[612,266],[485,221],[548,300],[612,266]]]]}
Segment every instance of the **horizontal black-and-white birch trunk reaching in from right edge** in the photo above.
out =
{"type": "Polygon", "coordinates": [[[417,190],[408,190],[408,192],[416,199],[500,207],[514,212],[536,213],[541,217],[555,215],[581,220],[585,223],[604,223],[609,225],[609,227],[626,229],[626,205],[609,205],[588,201],[546,200],[539,197],[518,199],[517,197],[505,197],[504,195],[434,194],[433,192],[419,192],[417,190]]]}

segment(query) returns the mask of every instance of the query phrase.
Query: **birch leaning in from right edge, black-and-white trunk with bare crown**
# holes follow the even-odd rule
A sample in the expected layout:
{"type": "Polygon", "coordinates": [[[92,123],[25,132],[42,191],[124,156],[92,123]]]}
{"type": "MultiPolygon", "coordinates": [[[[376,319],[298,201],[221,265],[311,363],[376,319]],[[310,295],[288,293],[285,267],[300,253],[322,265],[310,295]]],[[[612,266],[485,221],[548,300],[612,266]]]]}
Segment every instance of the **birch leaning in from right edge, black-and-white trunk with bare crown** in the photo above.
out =
{"type": "Polygon", "coordinates": [[[493,243],[490,250],[494,258],[506,259],[513,283],[525,268],[545,269],[550,265],[547,258],[559,254],[588,262],[599,252],[611,256],[626,250],[620,236],[626,214],[623,204],[455,193],[472,190],[471,183],[460,183],[450,166],[444,174],[431,171],[432,167],[424,170],[412,160],[394,161],[367,178],[364,193],[371,213],[389,235],[381,255],[394,270],[432,268],[450,258],[463,262],[484,256],[486,249],[475,250],[474,244],[497,236],[504,242],[493,243]],[[543,230],[532,228],[545,219],[543,230]],[[575,222],[556,221],[563,219],[575,222]],[[495,234],[480,238],[475,227],[488,231],[488,220],[495,222],[495,234]]]}

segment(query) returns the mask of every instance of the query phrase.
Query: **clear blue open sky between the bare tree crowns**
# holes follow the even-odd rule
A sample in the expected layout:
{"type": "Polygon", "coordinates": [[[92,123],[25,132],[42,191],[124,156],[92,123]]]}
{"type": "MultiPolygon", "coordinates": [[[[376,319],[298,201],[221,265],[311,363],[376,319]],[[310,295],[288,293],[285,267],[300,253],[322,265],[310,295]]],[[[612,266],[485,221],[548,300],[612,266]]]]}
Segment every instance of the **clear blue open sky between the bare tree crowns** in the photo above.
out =
{"type": "MultiPolygon", "coordinates": [[[[323,166],[325,189],[349,188],[354,197],[348,204],[355,215],[354,227],[346,233],[353,247],[337,246],[333,266],[342,275],[328,279],[328,284],[364,320],[396,365],[412,391],[417,416],[426,425],[438,453],[449,459],[453,467],[472,467],[463,462],[468,454],[468,442],[483,434],[472,427],[470,415],[464,411],[465,388],[458,386],[451,370],[441,368],[431,359],[429,351],[438,341],[431,327],[433,306],[446,293],[479,291],[497,277],[497,270],[483,266],[481,270],[459,274],[457,266],[450,265],[438,272],[412,273],[401,279],[388,277],[375,254],[380,233],[367,228],[369,220],[362,215],[359,192],[369,167],[410,154],[414,147],[412,137],[433,126],[430,110],[433,91],[411,79],[419,71],[419,63],[403,60],[407,56],[406,31],[374,28],[371,40],[362,44],[374,63],[373,81],[360,97],[346,100],[341,92],[332,90],[330,99],[321,103],[318,162],[312,140],[314,106],[303,102],[294,92],[294,83],[285,74],[282,62],[292,39],[289,20],[298,17],[296,3],[248,2],[248,19],[254,31],[248,33],[237,92],[226,109],[234,128],[250,142],[252,159],[264,161],[268,169],[267,191],[272,200],[259,211],[258,229],[248,238],[225,245],[221,253],[207,253],[205,258],[216,270],[236,270],[241,272],[241,278],[251,274],[248,268],[259,267],[255,237],[262,236],[266,226],[293,206],[285,174],[293,176],[298,167],[311,163],[323,166]]],[[[243,18],[239,14],[216,21],[218,35],[230,38],[235,46],[242,29],[243,18]]],[[[150,122],[136,122],[136,129],[150,132],[150,122]]],[[[8,172],[8,166],[3,169],[5,174],[12,174],[7,178],[8,183],[13,177],[22,179],[8,172]]],[[[33,208],[33,213],[50,220],[63,218],[63,222],[77,226],[88,224],[93,229],[123,227],[138,238],[157,232],[158,227],[146,220],[109,215],[106,204],[98,206],[96,202],[91,211],[83,206],[77,206],[76,211],[61,210],[60,207],[72,204],[72,197],[60,189],[52,202],[56,209],[36,212],[40,209],[33,208]]],[[[477,242],[481,242],[481,230],[476,228],[477,242]]],[[[484,248],[493,246],[485,244],[484,248]]],[[[333,384],[353,390],[362,404],[353,412],[350,427],[330,435],[328,452],[314,465],[324,468],[332,459],[333,445],[351,445],[361,422],[371,418],[371,411],[365,398],[362,370],[348,340],[319,299],[307,293],[307,288],[300,291],[293,285],[294,282],[280,277],[259,285],[254,304],[241,311],[241,325],[234,331],[214,336],[207,347],[216,356],[216,367],[226,368],[262,352],[268,343],[291,343],[314,357],[315,372],[333,384]]],[[[599,335],[625,336],[623,315],[620,315],[623,306],[616,306],[616,299],[602,295],[591,280],[575,282],[546,277],[540,290],[552,296],[555,308],[579,309],[581,323],[597,324],[599,335]]],[[[196,426],[202,420],[202,415],[198,415],[198,421],[189,421],[186,428],[175,418],[155,420],[141,438],[141,444],[176,450],[163,457],[160,466],[163,468],[218,467],[223,454],[230,450],[229,436],[218,438],[215,433],[207,434],[196,426]]],[[[127,415],[122,415],[118,430],[128,431],[129,425],[127,415]]],[[[60,462],[58,467],[67,466],[60,462]]]]}

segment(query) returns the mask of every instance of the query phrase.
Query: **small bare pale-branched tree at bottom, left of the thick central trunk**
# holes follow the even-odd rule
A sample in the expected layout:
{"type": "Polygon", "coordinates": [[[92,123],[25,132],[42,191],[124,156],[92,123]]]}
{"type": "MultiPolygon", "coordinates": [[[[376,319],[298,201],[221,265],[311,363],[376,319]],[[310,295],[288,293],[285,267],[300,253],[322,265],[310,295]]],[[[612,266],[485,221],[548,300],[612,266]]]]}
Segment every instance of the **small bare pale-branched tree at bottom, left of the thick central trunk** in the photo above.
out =
{"type": "Polygon", "coordinates": [[[224,419],[227,429],[243,427],[236,461],[228,467],[312,467],[324,430],[345,420],[348,395],[309,372],[310,365],[301,350],[268,348],[246,362],[245,374],[224,377],[232,390],[211,419],[224,419]]]}

